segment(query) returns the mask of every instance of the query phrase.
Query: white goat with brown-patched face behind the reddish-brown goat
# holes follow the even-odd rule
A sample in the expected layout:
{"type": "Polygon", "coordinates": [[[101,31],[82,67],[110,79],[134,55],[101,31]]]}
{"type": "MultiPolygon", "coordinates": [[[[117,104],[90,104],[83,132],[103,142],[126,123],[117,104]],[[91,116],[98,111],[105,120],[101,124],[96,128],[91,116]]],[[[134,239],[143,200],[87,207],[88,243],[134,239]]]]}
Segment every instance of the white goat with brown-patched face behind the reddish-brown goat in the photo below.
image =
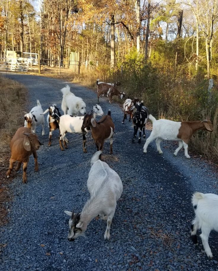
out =
{"type": "Polygon", "coordinates": [[[29,113],[24,115],[25,119],[24,127],[28,127],[29,129],[31,129],[33,133],[36,133],[36,126],[42,124],[42,136],[44,136],[45,130],[44,130],[44,116],[42,115],[43,110],[39,100],[36,101],[37,106],[33,107],[29,113]]]}

